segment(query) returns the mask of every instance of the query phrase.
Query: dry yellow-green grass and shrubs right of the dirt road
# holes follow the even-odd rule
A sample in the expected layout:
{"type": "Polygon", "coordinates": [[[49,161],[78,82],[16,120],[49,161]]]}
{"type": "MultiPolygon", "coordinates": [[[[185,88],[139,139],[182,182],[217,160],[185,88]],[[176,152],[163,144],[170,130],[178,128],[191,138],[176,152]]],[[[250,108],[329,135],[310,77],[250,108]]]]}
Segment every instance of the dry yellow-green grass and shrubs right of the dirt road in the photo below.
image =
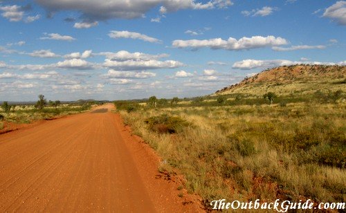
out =
{"type": "Polygon", "coordinates": [[[163,159],[159,171],[181,172],[185,188],[206,207],[221,198],[345,202],[343,79],[309,93],[254,86],[246,93],[115,104],[163,159]]]}

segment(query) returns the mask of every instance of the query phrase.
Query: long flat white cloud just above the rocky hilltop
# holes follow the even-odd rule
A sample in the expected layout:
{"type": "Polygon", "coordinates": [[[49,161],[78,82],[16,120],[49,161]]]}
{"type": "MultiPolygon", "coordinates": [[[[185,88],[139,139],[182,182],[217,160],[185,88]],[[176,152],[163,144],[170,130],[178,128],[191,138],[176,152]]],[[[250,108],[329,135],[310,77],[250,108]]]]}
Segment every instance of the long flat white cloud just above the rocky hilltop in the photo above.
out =
{"type": "Polygon", "coordinates": [[[342,65],[343,62],[333,63],[333,62],[292,62],[285,59],[275,59],[275,60],[255,60],[255,59],[246,59],[240,62],[235,62],[233,68],[239,68],[242,70],[251,70],[253,68],[273,68],[276,66],[289,66],[293,64],[325,64],[325,65],[342,65]]]}

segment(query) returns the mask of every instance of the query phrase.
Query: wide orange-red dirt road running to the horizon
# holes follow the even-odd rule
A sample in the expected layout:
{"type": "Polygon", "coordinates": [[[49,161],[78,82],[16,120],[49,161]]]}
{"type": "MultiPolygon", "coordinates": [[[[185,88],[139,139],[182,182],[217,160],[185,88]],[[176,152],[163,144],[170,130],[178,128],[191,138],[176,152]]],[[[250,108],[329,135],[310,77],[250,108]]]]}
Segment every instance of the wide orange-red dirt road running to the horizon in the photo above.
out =
{"type": "Polygon", "coordinates": [[[0,212],[201,212],[107,104],[0,135],[0,212]]]}

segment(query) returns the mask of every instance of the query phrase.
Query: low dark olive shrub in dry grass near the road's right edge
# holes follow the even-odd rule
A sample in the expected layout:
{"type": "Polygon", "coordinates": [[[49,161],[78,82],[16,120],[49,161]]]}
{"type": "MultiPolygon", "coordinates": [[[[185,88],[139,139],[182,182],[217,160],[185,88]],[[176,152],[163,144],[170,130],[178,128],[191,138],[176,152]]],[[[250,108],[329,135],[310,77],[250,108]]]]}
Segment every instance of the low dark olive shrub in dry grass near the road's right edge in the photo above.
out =
{"type": "Polygon", "coordinates": [[[147,118],[145,123],[148,124],[149,129],[158,131],[159,133],[177,133],[190,125],[178,116],[167,114],[147,118]]]}

